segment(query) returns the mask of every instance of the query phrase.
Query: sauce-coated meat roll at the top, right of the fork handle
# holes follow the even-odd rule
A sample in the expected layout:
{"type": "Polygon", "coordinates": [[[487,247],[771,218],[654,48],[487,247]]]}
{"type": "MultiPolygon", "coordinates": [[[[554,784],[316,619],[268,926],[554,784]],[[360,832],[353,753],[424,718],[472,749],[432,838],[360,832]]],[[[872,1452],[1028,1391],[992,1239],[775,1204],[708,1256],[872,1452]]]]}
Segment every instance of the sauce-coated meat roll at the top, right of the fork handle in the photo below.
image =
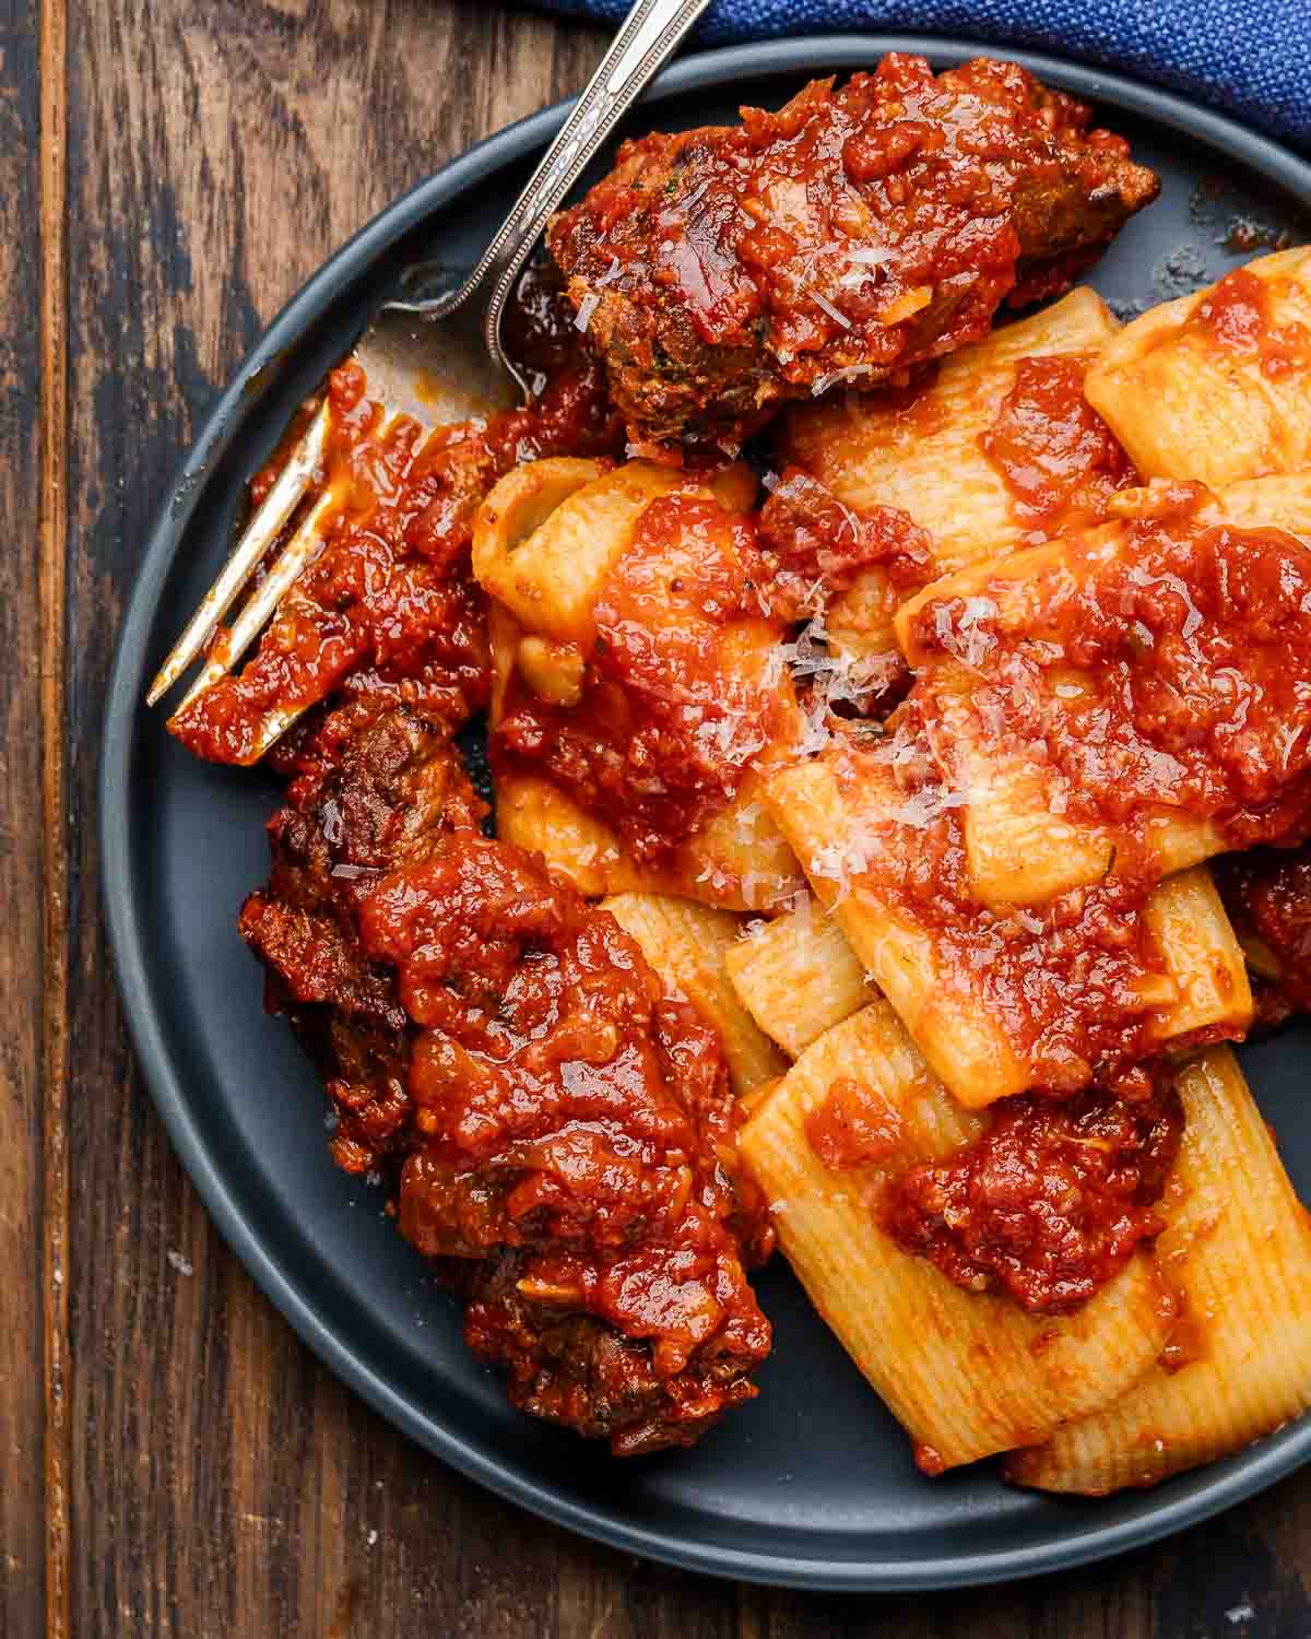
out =
{"type": "Polygon", "coordinates": [[[547,244],[636,443],[736,446],[1070,284],[1157,195],[1090,110],[1013,64],[893,54],[778,113],[626,143],[547,244]]]}

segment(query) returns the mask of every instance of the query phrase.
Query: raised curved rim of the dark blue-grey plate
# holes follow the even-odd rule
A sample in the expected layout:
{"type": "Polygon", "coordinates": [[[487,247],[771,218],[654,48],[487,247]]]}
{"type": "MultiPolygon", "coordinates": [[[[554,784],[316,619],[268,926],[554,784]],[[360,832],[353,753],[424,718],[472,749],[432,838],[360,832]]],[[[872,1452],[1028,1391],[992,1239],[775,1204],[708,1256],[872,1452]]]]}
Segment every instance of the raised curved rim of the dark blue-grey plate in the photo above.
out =
{"type": "MultiPolygon", "coordinates": [[[[723,89],[739,77],[759,79],[778,74],[800,79],[826,70],[851,70],[887,51],[923,52],[939,66],[983,54],[1003,56],[1077,97],[1113,103],[1123,111],[1196,138],[1226,157],[1262,172],[1304,205],[1311,205],[1311,162],[1227,115],[1196,107],[1185,97],[1113,69],[1047,52],[1013,51],[1005,41],[969,41],[959,36],[906,31],[805,34],[752,41],[680,59],[652,82],[641,107],[656,107],[667,98],[700,89],[723,89]]],[[[541,1518],[608,1547],[685,1570],[824,1591],[893,1593],[978,1587],[1086,1565],[1155,1542],[1234,1506],[1311,1460],[1311,1413],[1247,1447],[1209,1482],[1165,1503],[1145,1519],[1075,1529],[1050,1542],[987,1554],[949,1554],[937,1560],[926,1557],[913,1564],[890,1559],[795,1557],[718,1547],[701,1539],[690,1539],[677,1528],[657,1531],[616,1519],[605,1505],[575,1503],[559,1495],[552,1485],[482,1451],[474,1441],[465,1439],[457,1426],[421,1416],[393,1383],[379,1375],[346,1339],[338,1336],[318,1313],[313,1296],[302,1290],[303,1283],[297,1282],[290,1262],[284,1264],[265,1246],[257,1226],[246,1219],[234,1200],[221,1165],[210,1154],[193,1119],[185,1078],[164,1041],[162,1008],[151,988],[147,939],[138,915],[139,898],[133,892],[136,844],[131,824],[131,769],[136,746],[147,733],[146,724],[157,721],[146,715],[141,698],[149,657],[149,628],[164,582],[200,503],[205,479],[223,457],[244,413],[262,397],[261,374],[298,343],[302,333],[336,297],[424,218],[459,200],[488,172],[539,151],[559,128],[572,102],[572,98],[559,102],[483,138],[400,195],[352,234],[284,305],[247,352],[228,388],[205,413],[200,431],[175,469],[157,508],[115,644],[98,770],[102,906],[115,980],[146,1088],[215,1228],[261,1292],[315,1355],[374,1411],[429,1454],[541,1518]]]]}

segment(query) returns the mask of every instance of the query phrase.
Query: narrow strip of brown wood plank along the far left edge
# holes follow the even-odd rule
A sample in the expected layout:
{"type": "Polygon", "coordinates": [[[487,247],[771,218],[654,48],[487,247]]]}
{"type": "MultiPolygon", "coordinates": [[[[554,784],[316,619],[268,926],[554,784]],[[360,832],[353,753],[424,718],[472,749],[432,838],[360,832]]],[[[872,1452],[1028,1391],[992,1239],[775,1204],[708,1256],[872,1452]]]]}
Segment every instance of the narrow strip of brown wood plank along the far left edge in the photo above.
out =
{"type": "Polygon", "coordinates": [[[44,1621],[41,1378],[39,38],[0,0],[0,1632],[44,1621]]]}

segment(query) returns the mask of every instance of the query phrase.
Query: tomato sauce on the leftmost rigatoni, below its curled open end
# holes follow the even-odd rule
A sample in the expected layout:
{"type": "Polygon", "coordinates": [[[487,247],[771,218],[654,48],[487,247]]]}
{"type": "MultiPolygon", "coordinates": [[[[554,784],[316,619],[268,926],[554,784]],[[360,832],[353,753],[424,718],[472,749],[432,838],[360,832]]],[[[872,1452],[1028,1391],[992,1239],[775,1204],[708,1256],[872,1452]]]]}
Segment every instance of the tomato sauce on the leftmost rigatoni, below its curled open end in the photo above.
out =
{"type": "Polygon", "coordinates": [[[637,859],[667,856],[733,801],[780,723],[755,574],[747,516],[695,493],[652,502],[597,600],[582,698],[551,705],[516,674],[493,764],[546,770],[637,859]]]}

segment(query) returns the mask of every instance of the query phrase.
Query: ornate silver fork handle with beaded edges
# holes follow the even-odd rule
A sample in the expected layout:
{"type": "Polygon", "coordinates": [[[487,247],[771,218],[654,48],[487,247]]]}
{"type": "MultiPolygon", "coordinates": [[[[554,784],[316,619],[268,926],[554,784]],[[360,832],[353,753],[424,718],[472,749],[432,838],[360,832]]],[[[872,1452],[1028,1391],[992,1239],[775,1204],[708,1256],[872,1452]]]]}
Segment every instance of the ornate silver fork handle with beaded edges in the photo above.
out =
{"type": "Polygon", "coordinates": [[[637,0],[554,143],[528,179],[500,233],[483,251],[457,298],[451,302],[451,308],[460,306],[479,285],[483,282],[490,285],[487,347],[516,379],[518,369],[501,351],[500,328],[505,303],[523,264],[541,238],[547,218],[578,180],[592,156],[708,5],[710,0],[637,0]]]}

